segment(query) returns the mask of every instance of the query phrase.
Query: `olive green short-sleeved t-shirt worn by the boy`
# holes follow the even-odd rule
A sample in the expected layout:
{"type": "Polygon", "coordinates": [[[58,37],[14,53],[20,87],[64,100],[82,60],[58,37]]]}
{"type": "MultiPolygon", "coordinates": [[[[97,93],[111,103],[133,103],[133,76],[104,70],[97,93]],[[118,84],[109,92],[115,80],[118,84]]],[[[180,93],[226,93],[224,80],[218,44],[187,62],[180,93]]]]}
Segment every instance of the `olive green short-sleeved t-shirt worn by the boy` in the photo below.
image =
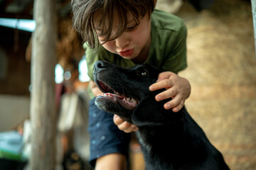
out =
{"type": "MultiPolygon", "coordinates": [[[[178,73],[186,68],[186,26],[177,16],[164,11],[154,10],[151,14],[151,45],[149,56],[144,64],[151,64],[163,71],[178,73]]],[[[93,81],[93,65],[98,60],[112,62],[120,67],[133,67],[132,60],[113,54],[104,47],[90,49],[86,42],[85,56],[88,76],[93,81]]],[[[90,90],[89,90],[90,91],[90,90]]],[[[90,98],[93,98],[90,91],[90,98]]]]}

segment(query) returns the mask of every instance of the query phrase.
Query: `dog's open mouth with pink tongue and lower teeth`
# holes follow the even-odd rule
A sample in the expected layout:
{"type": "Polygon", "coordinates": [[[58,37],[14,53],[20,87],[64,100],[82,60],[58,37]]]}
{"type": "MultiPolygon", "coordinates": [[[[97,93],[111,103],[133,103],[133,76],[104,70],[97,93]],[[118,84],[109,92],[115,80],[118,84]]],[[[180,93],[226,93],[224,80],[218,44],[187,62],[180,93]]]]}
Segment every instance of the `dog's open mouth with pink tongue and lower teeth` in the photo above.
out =
{"type": "Polygon", "coordinates": [[[104,94],[98,94],[97,96],[119,103],[128,110],[133,110],[137,106],[138,101],[134,98],[127,97],[124,94],[119,94],[119,92],[114,91],[102,81],[97,81],[97,84],[100,86],[101,91],[104,92],[104,94]]]}

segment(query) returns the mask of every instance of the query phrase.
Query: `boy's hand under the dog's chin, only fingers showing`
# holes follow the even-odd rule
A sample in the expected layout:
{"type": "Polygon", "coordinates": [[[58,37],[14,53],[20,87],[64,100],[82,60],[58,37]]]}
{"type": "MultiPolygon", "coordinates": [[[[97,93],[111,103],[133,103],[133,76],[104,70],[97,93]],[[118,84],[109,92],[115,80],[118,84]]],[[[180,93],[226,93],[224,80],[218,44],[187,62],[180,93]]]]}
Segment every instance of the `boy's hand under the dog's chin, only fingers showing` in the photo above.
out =
{"type": "Polygon", "coordinates": [[[124,132],[134,132],[139,130],[137,126],[132,125],[131,123],[127,123],[127,121],[124,121],[122,118],[119,118],[118,115],[114,115],[114,124],[117,125],[119,130],[123,130],[124,132]]]}

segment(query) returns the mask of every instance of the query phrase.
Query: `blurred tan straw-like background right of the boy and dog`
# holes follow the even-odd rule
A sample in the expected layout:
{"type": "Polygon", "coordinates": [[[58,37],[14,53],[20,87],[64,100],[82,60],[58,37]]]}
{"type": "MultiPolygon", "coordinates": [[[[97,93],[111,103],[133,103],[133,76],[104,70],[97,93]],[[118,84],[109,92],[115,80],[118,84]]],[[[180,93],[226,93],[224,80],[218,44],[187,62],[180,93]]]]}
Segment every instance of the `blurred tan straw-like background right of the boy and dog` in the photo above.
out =
{"type": "MultiPolygon", "coordinates": [[[[169,11],[169,0],[159,0],[169,11]]],[[[176,13],[188,27],[192,86],[186,107],[233,170],[256,169],[256,57],[250,1],[216,0],[197,12],[176,13]]]]}

